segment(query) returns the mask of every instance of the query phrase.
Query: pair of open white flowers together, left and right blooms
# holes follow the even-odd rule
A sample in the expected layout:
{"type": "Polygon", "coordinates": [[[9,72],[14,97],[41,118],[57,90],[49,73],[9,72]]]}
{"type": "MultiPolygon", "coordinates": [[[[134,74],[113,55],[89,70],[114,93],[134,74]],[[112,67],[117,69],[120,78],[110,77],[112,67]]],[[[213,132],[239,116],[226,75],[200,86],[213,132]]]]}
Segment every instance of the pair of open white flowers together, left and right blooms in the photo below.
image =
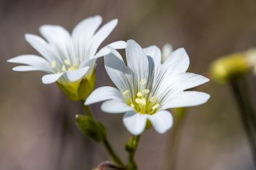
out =
{"type": "Polygon", "coordinates": [[[104,101],[102,111],[125,112],[123,122],[131,134],[141,134],[146,124],[160,134],[173,125],[173,117],[166,109],[192,107],[203,104],[210,97],[194,90],[208,82],[206,77],[187,72],[189,57],[184,48],[172,52],[166,45],[163,54],[156,46],[142,48],[134,40],[113,42],[97,53],[117,20],[101,28],[100,16],[78,23],[72,34],[61,26],[41,26],[39,36],[26,34],[26,41],[41,55],[20,55],[9,62],[21,63],[15,71],[43,71],[42,82],[76,82],[95,71],[97,58],[104,56],[105,69],[116,85],[94,90],[85,104],[104,101]],[[115,49],[126,49],[127,64],[115,49]]]}

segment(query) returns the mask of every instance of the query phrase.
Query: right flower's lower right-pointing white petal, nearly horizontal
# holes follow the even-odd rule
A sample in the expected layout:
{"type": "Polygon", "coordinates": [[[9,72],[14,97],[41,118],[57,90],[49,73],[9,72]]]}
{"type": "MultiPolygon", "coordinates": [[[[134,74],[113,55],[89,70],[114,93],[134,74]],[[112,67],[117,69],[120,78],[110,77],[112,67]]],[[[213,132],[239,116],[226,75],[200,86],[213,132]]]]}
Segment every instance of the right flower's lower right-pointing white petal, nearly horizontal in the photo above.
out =
{"type": "Polygon", "coordinates": [[[173,94],[166,99],[162,109],[170,109],[176,107],[194,107],[206,103],[210,95],[198,91],[184,91],[181,93],[173,94]]]}

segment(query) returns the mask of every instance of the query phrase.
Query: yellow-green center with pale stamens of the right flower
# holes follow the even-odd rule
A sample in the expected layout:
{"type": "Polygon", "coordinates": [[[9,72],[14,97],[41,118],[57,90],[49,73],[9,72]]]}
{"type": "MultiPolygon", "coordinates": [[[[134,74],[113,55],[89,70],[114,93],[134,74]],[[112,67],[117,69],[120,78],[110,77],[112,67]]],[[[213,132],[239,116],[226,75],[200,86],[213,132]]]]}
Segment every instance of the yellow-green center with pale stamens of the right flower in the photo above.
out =
{"type": "Polygon", "coordinates": [[[150,90],[146,88],[146,79],[140,81],[140,91],[132,96],[130,90],[123,93],[127,104],[141,114],[154,115],[159,110],[160,104],[156,96],[150,95],[150,90]]]}

